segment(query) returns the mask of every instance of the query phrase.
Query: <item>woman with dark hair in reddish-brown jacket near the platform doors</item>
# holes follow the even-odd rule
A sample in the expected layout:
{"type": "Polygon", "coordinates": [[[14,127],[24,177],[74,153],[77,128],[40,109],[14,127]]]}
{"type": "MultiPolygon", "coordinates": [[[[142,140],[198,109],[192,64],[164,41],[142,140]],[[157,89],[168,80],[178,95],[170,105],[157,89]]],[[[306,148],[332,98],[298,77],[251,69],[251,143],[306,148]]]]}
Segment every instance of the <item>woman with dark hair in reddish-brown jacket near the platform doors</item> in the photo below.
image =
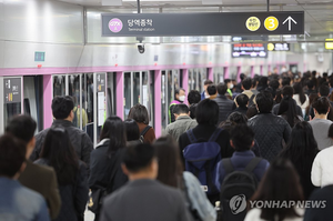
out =
{"type": "Polygon", "coordinates": [[[138,123],[140,138],[143,137],[143,142],[152,143],[155,140],[155,131],[149,125],[149,114],[144,106],[140,103],[133,106],[128,118],[133,119],[138,123]]]}

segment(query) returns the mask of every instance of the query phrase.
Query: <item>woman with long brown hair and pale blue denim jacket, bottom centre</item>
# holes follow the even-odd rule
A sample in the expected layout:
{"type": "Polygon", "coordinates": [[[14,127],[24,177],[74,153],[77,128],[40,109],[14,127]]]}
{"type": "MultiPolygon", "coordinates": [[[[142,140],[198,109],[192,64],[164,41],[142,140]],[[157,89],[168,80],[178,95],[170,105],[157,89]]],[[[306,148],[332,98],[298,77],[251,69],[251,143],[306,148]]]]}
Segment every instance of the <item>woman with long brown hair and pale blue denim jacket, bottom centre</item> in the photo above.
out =
{"type": "Polygon", "coordinates": [[[183,191],[193,218],[202,221],[215,221],[216,212],[202,191],[199,180],[192,173],[182,170],[176,142],[168,135],[158,139],[153,145],[159,159],[158,180],[183,191]]]}

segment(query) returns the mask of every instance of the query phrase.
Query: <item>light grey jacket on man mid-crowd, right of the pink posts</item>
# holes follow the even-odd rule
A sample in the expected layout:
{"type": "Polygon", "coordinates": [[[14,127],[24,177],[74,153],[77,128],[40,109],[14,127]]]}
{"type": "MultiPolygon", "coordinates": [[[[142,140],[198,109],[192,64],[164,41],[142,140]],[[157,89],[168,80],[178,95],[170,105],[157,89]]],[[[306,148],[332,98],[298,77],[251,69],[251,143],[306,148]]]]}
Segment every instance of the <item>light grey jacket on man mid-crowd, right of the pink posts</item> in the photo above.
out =
{"type": "Polygon", "coordinates": [[[193,120],[189,115],[180,115],[173,123],[170,123],[165,128],[165,132],[167,134],[172,135],[178,141],[181,134],[190,129],[195,128],[196,125],[196,120],[193,120]]]}

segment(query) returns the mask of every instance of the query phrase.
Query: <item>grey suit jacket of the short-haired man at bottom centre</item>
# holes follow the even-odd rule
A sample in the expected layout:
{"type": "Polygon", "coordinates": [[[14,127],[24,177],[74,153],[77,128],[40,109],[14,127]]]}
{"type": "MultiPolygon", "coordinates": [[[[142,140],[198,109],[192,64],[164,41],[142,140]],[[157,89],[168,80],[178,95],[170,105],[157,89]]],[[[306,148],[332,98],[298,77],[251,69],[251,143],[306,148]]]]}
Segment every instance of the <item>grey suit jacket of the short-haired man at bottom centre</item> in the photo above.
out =
{"type": "Polygon", "coordinates": [[[107,197],[100,221],[189,221],[180,190],[140,179],[107,197]]]}

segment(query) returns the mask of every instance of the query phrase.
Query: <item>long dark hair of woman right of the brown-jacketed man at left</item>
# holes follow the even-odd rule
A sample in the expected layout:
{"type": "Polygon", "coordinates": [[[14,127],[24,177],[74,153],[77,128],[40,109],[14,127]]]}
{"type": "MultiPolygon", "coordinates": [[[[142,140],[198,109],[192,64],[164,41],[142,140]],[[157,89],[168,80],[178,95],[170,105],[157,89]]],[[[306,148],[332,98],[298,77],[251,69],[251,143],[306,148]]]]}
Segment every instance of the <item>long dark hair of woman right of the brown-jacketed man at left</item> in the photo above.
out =
{"type": "Polygon", "coordinates": [[[48,160],[48,164],[54,169],[59,185],[75,183],[79,158],[63,127],[49,129],[40,158],[48,160]]]}

